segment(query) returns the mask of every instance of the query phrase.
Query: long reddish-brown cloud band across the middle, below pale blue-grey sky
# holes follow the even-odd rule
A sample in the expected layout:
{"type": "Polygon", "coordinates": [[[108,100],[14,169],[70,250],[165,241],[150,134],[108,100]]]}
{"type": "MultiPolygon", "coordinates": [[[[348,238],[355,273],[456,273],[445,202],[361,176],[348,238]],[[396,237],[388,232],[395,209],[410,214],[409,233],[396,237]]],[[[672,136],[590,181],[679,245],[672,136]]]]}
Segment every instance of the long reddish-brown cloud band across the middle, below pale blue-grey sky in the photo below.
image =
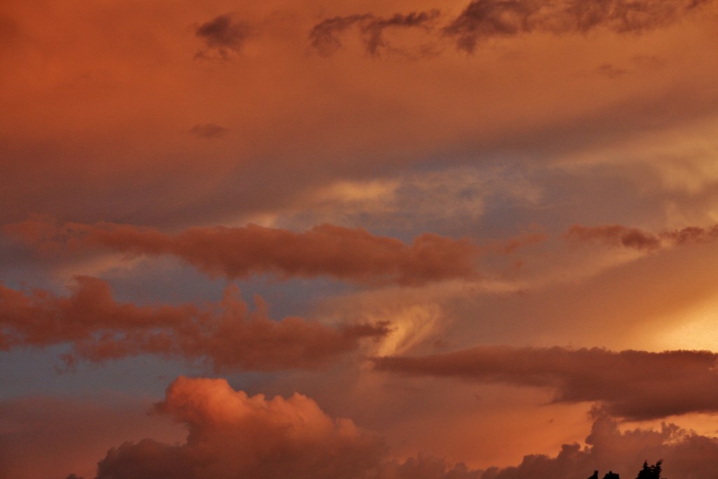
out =
{"type": "Polygon", "coordinates": [[[303,233],[250,224],[190,228],[170,235],[134,225],[57,225],[46,218],[33,218],[6,225],[4,231],[46,253],[61,248],[109,248],[131,256],[173,255],[207,274],[232,279],[253,274],[332,276],[365,284],[414,286],[475,277],[480,252],[465,238],[426,233],[407,245],[362,228],[328,224],[303,233]]]}

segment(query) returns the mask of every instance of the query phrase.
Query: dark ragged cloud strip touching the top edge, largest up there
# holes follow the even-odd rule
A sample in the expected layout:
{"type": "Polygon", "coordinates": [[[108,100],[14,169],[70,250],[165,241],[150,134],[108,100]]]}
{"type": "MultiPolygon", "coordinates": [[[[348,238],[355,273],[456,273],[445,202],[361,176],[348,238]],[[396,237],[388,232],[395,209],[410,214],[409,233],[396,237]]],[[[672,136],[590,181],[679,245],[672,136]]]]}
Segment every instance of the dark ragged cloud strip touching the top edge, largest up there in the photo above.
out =
{"type": "Polygon", "coordinates": [[[492,37],[530,32],[644,32],[678,21],[686,12],[712,0],[473,0],[444,27],[457,46],[472,52],[492,37]]]}

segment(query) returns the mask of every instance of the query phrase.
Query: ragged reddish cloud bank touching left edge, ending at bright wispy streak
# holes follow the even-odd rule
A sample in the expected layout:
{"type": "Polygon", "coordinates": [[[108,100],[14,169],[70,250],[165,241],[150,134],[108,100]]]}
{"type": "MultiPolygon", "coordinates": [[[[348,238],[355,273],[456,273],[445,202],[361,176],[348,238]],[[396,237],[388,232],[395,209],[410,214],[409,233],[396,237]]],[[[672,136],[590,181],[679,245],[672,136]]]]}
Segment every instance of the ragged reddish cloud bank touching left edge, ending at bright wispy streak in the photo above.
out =
{"type": "Polygon", "coordinates": [[[17,291],[0,284],[0,349],[70,343],[78,359],[106,361],[157,354],[209,361],[215,368],[314,368],[388,334],[386,323],[330,327],[300,317],[271,320],[256,297],[251,312],[236,287],[219,304],[137,306],[116,302],[102,279],[80,276],[73,294],[17,291]]]}

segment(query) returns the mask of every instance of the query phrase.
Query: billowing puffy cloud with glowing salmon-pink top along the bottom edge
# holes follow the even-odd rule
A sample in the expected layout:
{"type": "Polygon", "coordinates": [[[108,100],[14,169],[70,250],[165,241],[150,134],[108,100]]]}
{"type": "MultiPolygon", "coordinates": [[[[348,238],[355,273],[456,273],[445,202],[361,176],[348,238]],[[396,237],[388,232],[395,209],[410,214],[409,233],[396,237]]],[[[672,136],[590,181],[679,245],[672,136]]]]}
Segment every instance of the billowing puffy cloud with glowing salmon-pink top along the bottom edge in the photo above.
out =
{"type": "Polygon", "coordinates": [[[126,442],[99,462],[97,479],[351,479],[384,453],[381,440],[307,396],[248,396],[224,379],[177,378],[157,410],[185,424],[187,442],[126,442]]]}

